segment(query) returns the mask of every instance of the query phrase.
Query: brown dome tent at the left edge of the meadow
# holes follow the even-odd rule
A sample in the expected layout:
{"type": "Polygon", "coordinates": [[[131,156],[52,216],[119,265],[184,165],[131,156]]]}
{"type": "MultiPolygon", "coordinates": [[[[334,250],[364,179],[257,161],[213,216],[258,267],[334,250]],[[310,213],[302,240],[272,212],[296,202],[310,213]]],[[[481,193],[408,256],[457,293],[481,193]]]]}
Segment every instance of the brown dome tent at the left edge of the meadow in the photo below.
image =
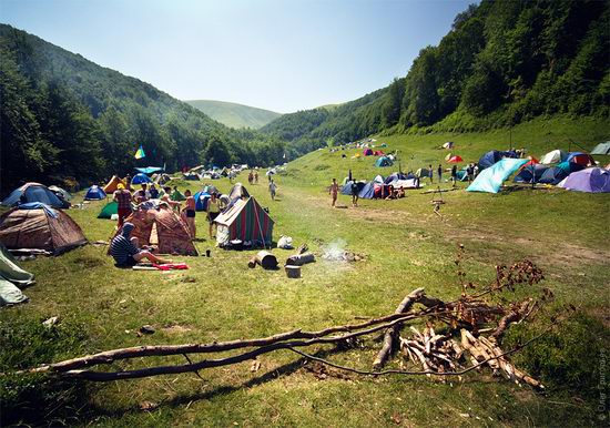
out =
{"type": "Polygon", "coordinates": [[[87,238],[64,212],[31,203],[0,216],[0,242],[9,249],[42,249],[57,255],[87,244],[87,238]]]}

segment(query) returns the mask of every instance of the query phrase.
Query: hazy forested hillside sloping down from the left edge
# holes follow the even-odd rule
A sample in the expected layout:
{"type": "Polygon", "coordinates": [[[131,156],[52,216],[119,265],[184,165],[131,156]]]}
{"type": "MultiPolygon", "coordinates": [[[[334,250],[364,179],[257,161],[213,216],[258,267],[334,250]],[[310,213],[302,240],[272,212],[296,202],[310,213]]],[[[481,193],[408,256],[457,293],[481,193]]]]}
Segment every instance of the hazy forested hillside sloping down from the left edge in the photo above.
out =
{"type": "Polygon", "coordinates": [[[23,181],[84,183],[135,165],[282,160],[277,139],[236,131],[138,79],[0,24],[1,188],[23,181]],[[136,161],[143,146],[146,157],[136,161]]]}

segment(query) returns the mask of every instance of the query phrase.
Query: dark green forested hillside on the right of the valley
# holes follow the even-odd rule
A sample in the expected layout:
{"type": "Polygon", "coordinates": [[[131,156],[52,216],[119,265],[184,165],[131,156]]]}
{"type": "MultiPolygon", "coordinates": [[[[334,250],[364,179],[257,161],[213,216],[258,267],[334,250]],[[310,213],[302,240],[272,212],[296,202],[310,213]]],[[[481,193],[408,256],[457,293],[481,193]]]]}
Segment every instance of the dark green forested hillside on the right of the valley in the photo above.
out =
{"type": "MultiPolygon", "coordinates": [[[[397,52],[397,54],[400,54],[397,52]]],[[[535,116],[608,116],[610,2],[482,0],[459,13],[405,78],[262,131],[311,150],[378,132],[475,131],[535,116]]]]}

